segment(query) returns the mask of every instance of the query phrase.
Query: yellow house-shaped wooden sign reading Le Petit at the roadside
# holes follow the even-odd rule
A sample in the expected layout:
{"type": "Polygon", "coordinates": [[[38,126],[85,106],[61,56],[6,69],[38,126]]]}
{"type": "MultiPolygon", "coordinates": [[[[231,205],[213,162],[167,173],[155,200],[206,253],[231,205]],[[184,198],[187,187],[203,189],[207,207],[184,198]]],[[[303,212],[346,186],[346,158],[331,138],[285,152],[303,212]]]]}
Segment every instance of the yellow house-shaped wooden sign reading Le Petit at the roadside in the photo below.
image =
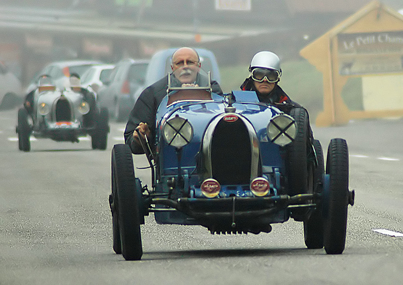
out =
{"type": "Polygon", "coordinates": [[[300,54],[323,74],[323,111],[316,118],[317,126],[403,116],[403,16],[399,13],[371,2],[300,54]],[[341,96],[352,77],[362,78],[363,110],[349,110],[341,96]]]}

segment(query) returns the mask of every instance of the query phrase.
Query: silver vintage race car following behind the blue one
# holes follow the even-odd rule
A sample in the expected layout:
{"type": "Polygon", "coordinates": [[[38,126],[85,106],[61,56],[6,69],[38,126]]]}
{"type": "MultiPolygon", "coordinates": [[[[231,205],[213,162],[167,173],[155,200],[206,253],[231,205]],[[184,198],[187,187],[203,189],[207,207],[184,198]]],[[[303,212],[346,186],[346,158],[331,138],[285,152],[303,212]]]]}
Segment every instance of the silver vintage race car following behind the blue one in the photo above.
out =
{"type": "Polygon", "coordinates": [[[18,147],[29,152],[31,134],[72,142],[90,135],[92,148],[105,150],[108,121],[108,111],[98,109],[93,93],[82,88],[78,78],[71,79],[71,87],[59,90],[49,77],[43,76],[18,110],[18,147]]]}

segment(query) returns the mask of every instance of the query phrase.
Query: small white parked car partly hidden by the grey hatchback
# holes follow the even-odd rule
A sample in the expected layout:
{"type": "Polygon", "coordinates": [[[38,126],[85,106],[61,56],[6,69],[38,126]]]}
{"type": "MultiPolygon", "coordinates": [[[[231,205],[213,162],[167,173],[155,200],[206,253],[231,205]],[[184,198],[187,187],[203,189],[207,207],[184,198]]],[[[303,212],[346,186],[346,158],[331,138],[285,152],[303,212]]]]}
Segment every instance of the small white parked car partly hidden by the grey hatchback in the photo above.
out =
{"type": "Polygon", "coordinates": [[[81,77],[81,86],[93,91],[96,95],[98,90],[108,80],[114,64],[96,64],[87,69],[81,77]]]}

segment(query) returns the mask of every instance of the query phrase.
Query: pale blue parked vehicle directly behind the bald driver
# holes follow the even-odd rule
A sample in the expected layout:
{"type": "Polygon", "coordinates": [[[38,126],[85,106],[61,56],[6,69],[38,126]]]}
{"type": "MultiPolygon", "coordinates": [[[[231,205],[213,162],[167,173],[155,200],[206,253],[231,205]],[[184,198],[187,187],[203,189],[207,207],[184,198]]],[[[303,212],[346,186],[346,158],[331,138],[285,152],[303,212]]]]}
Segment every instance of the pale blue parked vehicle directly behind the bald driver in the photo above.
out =
{"type": "MultiPolygon", "coordinates": [[[[163,49],[157,51],[151,57],[150,63],[147,67],[144,85],[137,90],[135,94],[136,98],[139,98],[144,89],[172,72],[171,57],[176,49],[177,48],[163,49]]],[[[211,79],[220,83],[220,70],[214,53],[204,48],[196,48],[195,50],[200,57],[201,69],[205,70],[205,72],[210,72],[211,79]]]]}

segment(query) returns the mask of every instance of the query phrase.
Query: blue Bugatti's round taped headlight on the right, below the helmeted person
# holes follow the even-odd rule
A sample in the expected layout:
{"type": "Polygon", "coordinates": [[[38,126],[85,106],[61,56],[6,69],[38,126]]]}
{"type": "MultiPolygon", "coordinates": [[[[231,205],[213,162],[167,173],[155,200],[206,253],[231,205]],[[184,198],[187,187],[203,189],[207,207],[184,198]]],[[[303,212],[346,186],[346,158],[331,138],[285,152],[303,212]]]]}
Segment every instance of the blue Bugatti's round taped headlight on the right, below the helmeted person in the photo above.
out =
{"type": "Polygon", "coordinates": [[[276,145],[284,147],[297,135],[297,123],[287,114],[274,116],[267,125],[267,136],[276,145]]]}

